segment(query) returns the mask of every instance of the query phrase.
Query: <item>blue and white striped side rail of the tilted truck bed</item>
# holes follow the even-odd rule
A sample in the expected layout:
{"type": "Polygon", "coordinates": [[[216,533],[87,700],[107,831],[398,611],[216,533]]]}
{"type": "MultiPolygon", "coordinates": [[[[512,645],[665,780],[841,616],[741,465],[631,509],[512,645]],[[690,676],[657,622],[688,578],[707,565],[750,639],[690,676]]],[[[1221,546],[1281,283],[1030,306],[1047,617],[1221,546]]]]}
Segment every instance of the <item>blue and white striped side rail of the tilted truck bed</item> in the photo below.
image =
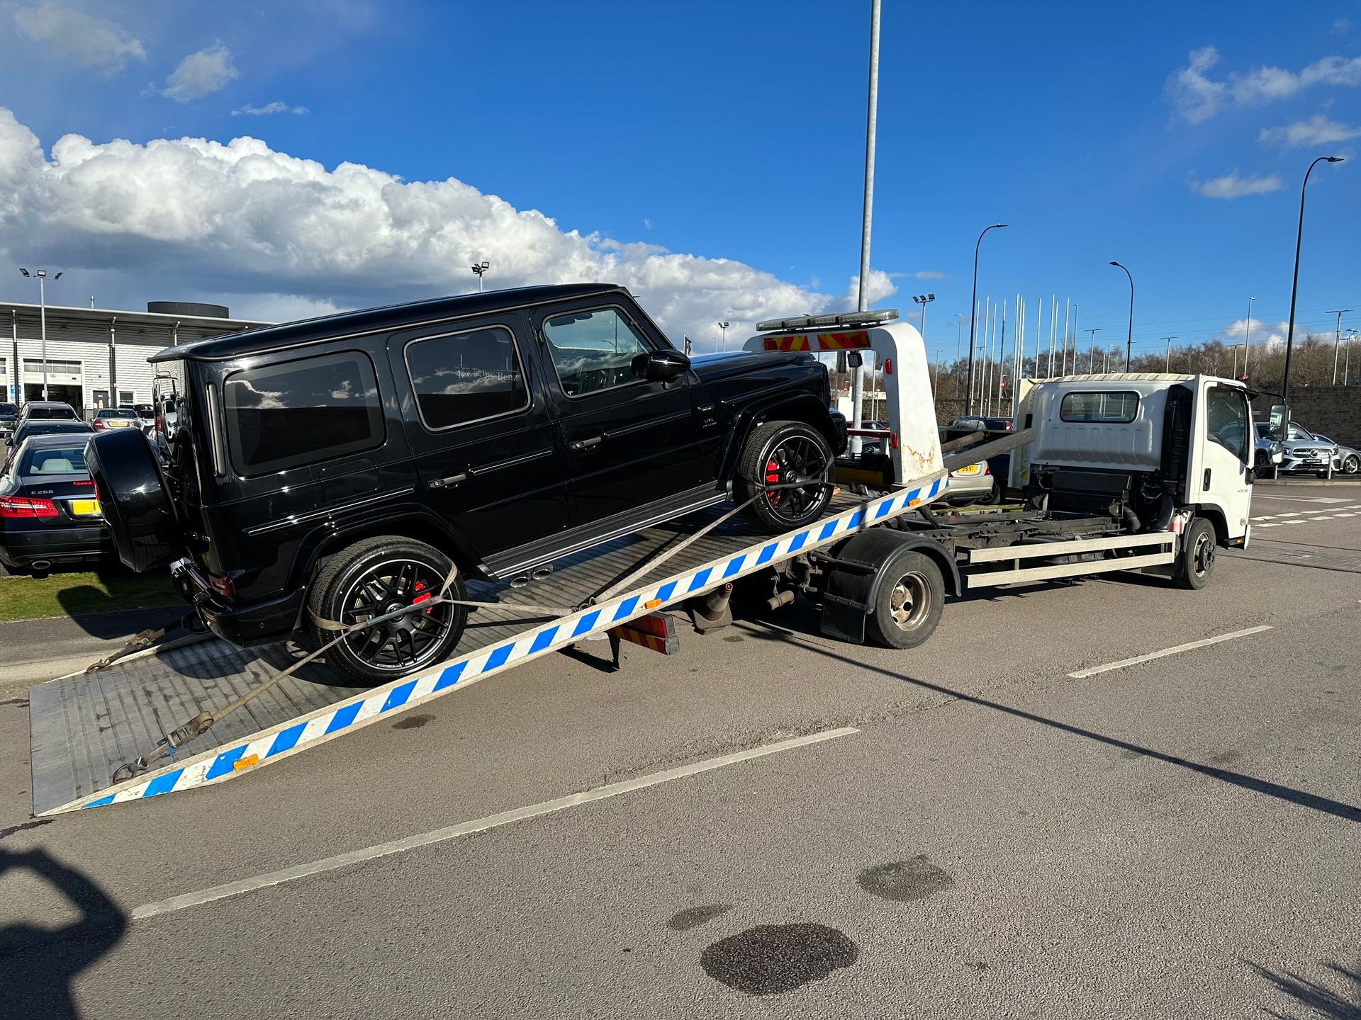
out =
{"type": "Polygon", "coordinates": [[[648,582],[641,590],[615,596],[606,602],[551,623],[532,626],[509,641],[493,643],[419,673],[352,695],[325,709],[264,729],[244,741],[237,740],[229,747],[197,753],[185,762],[163,764],[135,779],[106,787],[98,794],[80,797],[41,813],[59,815],[79,808],[99,808],[106,804],[159,797],[163,793],[225,782],[260,766],[316,747],[325,740],[352,733],[380,717],[389,718],[407,709],[425,704],[433,698],[463,690],[478,680],[485,680],[550,651],[558,651],[593,634],[607,631],[610,627],[702,594],[724,582],[755,573],[799,552],[827,545],[844,539],[851,532],[882,524],[936,499],[947,484],[949,480],[942,476],[912,488],[901,488],[836,517],[826,517],[800,530],[765,543],[755,543],[729,556],[690,567],[664,581],[648,582]]]}

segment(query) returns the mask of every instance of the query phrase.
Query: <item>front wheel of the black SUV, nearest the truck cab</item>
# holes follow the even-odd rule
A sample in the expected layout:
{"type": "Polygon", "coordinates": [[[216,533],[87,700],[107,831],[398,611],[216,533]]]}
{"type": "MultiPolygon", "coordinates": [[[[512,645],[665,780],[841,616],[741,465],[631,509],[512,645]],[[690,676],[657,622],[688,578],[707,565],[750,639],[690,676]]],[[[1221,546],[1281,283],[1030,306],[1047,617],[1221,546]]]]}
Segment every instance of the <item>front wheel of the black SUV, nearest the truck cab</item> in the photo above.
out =
{"type": "Polygon", "coordinates": [[[738,503],[755,499],[742,511],[762,530],[781,534],[822,517],[832,502],[832,447],[822,432],[803,422],[766,422],[751,430],[742,453],[734,495],[738,503]],[[807,488],[783,488],[761,494],[753,479],[768,484],[815,479],[807,488]]]}

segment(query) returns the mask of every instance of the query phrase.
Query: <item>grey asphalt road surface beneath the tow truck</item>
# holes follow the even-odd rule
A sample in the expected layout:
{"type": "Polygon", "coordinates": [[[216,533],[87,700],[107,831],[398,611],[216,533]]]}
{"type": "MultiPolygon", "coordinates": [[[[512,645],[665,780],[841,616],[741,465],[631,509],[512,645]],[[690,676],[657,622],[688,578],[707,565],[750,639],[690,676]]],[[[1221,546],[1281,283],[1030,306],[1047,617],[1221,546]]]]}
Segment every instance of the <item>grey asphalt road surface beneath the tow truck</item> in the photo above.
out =
{"type": "Polygon", "coordinates": [[[1361,1016],[1361,488],[1256,495],[1203,592],[994,593],[909,653],[795,607],[52,820],[11,688],[0,1016],[1361,1016]]]}

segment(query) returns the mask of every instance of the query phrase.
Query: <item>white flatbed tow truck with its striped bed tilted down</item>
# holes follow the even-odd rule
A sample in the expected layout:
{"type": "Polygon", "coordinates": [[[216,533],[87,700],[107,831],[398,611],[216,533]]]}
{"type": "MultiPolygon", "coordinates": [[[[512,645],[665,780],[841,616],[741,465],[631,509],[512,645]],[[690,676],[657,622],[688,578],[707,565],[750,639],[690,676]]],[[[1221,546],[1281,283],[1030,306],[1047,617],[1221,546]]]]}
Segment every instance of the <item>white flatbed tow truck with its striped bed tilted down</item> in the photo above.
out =
{"type": "Polygon", "coordinates": [[[607,638],[615,665],[623,643],[672,654],[682,612],[700,634],[732,622],[734,585],[772,609],[810,598],[825,634],[912,649],[974,589],[1112,571],[1198,589],[1217,548],[1248,543],[1252,419],[1236,381],[1023,381],[1014,431],[942,438],[921,336],[896,311],[761,322],[744,348],[878,360],[889,427],[878,449],[836,462],[821,520],[772,537],[720,505],[576,552],[529,585],[472,583],[455,656],[377,687],[338,685],[294,645],[197,634],[140,647],[143,635],[31,690],[34,813],[227,782],[589,639],[607,638]],[[1006,450],[1023,506],[938,507],[949,471],[1006,450]]]}

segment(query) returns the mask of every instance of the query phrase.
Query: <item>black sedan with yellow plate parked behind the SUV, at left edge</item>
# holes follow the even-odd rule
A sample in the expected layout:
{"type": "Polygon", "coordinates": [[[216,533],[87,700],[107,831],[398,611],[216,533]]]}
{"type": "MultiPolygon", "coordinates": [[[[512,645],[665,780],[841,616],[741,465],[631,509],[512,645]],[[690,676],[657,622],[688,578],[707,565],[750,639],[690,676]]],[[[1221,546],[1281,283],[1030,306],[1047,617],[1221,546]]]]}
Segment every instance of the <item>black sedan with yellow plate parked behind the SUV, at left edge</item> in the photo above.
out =
{"type": "Polygon", "coordinates": [[[112,549],[80,432],[33,435],[0,471],[0,563],[46,574],[112,549]]]}

